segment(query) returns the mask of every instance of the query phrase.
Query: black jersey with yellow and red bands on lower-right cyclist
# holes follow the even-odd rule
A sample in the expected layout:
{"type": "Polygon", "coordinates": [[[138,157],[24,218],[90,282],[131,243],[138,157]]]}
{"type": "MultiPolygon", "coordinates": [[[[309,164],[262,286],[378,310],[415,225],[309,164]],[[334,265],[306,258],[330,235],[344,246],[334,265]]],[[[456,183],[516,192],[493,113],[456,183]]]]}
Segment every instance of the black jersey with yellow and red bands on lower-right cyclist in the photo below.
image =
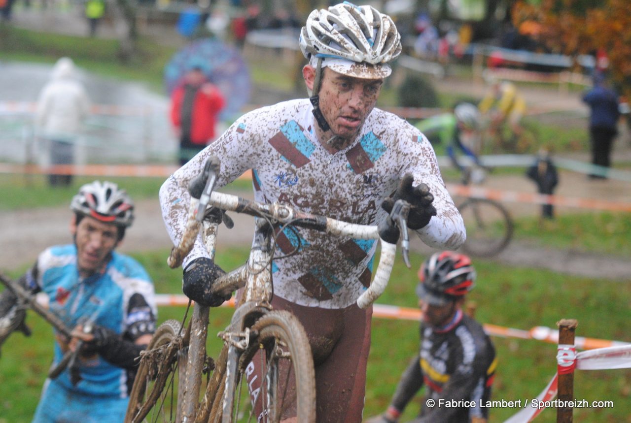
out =
{"type": "Polygon", "coordinates": [[[401,376],[392,407],[402,412],[424,385],[425,399],[415,423],[486,419],[497,361],[480,323],[459,310],[442,330],[422,324],[420,331],[420,354],[401,376]],[[434,400],[431,408],[427,407],[430,398],[434,400]]]}

